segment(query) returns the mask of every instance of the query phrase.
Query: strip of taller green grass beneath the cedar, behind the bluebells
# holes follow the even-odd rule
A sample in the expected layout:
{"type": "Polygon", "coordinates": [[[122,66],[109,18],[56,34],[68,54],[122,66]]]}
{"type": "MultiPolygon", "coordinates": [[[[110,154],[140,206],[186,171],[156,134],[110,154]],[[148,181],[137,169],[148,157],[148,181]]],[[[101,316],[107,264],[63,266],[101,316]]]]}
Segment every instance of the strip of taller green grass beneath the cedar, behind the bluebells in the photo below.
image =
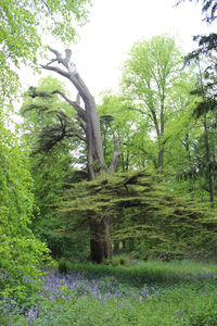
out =
{"type": "MultiPolygon", "coordinates": [[[[189,281],[210,283],[217,279],[217,265],[215,263],[174,261],[133,262],[124,258],[126,263],[118,265],[97,265],[92,263],[72,264],[69,269],[82,272],[88,275],[112,275],[119,281],[129,285],[142,286],[148,284],[186,284],[189,281]]],[[[118,261],[120,258],[118,256],[118,261]]],[[[68,269],[68,271],[69,271],[68,269]]]]}

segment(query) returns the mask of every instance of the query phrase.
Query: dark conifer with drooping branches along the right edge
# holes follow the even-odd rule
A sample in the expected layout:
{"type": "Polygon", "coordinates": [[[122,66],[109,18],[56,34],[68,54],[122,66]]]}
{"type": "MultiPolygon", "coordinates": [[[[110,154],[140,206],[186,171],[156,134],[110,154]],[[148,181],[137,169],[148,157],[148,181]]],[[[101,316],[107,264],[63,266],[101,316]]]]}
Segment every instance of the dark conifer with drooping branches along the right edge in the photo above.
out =
{"type": "MultiPolygon", "coordinates": [[[[193,0],[189,0],[193,1],[193,0]]],[[[202,13],[204,15],[204,21],[208,24],[213,24],[216,18],[217,3],[213,0],[194,0],[195,2],[202,3],[202,13]]],[[[184,0],[179,0],[177,5],[184,0]]],[[[204,171],[206,178],[208,180],[208,192],[210,206],[214,209],[214,179],[213,176],[215,171],[215,154],[212,154],[212,151],[216,152],[215,148],[210,148],[210,135],[212,125],[216,125],[215,113],[212,115],[212,111],[215,112],[217,108],[216,101],[216,49],[217,49],[217,34],[210,33],[209,35],[197,35],[193,38],[199,42],[197,49],[189,53],[186,58],[186,62],[190,63],[195,61],[199,67],[199,83],[197,89],[194,90],[201,100],[199,100],[197,106],[195,109],[194,115],[203,120],[203,139],[205,146],[205,165],[201,162],[201,166],[204,165],[204,171]],[[202,62],[202,64],[201,64],[202,62]],[[209,115],[209,116],[208,116],[209,115]],[[209,121],[209,122],[208,122],[209,121]],[[213,160],[212,160],[213,156],[213,160]],[[213,161],[213,162],[212,162],[213,161]]],[[[216,129],[216,127],[215,127],[216,129]]],[[[212,130],[213,131],[213,130],[212,130]]]]}

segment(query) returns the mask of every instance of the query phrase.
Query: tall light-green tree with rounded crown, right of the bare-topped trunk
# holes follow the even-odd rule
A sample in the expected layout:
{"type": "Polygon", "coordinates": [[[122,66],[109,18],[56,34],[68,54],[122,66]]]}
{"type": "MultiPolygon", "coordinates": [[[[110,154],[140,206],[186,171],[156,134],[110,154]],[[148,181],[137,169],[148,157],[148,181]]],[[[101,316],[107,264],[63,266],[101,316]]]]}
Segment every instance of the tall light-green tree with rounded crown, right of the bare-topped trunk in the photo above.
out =
{"type": "Polygon", "coordinates": [[[123,91],[129,109],[140,112],[155,131],[158,147],[158,170],[164,166],[166,122],[173,114],[170,93],[180,78],[181,53],[175,40],[156,36],[136,42],[124,65],[123,91]]]}

